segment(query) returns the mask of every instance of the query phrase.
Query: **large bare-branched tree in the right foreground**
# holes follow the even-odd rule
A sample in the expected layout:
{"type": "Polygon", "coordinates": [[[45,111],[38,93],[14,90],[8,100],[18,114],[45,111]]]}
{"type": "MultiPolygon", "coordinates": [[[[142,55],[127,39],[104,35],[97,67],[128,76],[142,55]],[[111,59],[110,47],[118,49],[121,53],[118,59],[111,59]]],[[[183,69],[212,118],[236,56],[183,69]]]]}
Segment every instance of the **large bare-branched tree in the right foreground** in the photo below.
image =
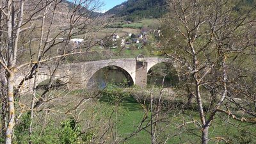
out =
{"type": "Polygon", "coordinates": [[[165,52],[183,66],[180,78],[195,97],[202,143],[211,139],[209,127],[218,112],[255,124],[255,75],[250,72],[256,68],[255,3],[174,0],[168,4],[170,12],[163,19],[165,52]]]}

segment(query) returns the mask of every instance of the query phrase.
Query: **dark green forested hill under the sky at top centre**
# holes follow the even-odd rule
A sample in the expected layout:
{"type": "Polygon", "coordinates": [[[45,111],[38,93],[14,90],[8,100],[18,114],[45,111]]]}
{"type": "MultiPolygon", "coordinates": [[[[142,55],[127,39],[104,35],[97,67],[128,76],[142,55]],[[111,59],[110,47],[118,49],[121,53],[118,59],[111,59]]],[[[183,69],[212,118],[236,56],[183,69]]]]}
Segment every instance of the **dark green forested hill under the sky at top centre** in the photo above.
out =
{"type": "Polygon", "coordinates": [[[159,18],[166,12],[165,0],[128,0],[111,8],[107,14],[125,17],[126,20],[159,18]]]}

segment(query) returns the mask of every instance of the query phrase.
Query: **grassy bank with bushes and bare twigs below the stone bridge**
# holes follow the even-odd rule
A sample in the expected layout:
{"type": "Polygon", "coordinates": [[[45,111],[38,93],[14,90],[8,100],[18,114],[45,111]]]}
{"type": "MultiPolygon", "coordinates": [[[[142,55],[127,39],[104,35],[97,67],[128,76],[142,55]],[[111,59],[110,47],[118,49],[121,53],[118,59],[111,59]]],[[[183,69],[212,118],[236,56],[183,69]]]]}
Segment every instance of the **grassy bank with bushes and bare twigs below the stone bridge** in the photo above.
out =
{"type": "MultiPolygon", "coordinates": [[[[154,138],[157,143],[200,143],[196,108],[185,108],[185,97],[175,95],[161,88],[56,90],[47,96],[51,101],[36,109],[33,141],[60,143],[69,138],[74,143],[133,144],[151,143],[154,138]]],[[[29,138],[26,112],[24,108],[22,115],[17,114],[21,116],[15,129],[16,140],[24,143],[29,138]]],[[[209,129],[210,143],[255,143],[251,136],[255,132],[253,125],[217,115],[209,129]]]]}

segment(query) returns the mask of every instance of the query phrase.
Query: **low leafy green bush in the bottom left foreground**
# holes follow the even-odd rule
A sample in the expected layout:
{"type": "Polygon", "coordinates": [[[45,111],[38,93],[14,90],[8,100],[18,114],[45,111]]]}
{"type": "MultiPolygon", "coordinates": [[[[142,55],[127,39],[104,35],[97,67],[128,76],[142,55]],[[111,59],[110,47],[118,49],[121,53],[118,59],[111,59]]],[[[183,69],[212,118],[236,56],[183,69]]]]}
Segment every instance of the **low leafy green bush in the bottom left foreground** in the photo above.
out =
{"type": "MultiPolygon", "coordinates": [[[[28,143],[29,141],[29,113],[24,114],[20,118],[19,124],[15,127],[15,138],[13,143],[28,143]]],[[[90,143],[95,132],[88,131],[82,132],[80,125],[77,124],[74,118],[64,120],[61,124],[56,124],[53,120],[50,120],[47,125],[41,125],[40,123],[34,125],[33,133],[31,135],[32,143],[90,143]]],[[[1,141],[1,140],[0,140],[1,141]]]]}

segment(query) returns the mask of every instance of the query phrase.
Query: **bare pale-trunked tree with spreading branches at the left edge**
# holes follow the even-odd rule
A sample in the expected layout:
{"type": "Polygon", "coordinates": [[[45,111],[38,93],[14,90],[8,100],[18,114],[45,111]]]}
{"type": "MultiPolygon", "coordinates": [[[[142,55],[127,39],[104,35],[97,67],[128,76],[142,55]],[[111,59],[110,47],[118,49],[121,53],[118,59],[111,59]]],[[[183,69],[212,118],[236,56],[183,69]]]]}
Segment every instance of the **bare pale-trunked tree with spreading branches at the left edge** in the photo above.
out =
{"type": "MultiPolygon", "coordinates": [[[[49,61],[54,61],[51,63],[53,65],[60,65],[65,56],[83,53],[92,47],[92,35],[84,35],[88,43],[84,42],[79,47],[70,45],[70,38],[84,33],[92,34],[104,26],[103,21],[92,13],[99,4],[95,0],[74,1],[74,4],[61,0],[0,2],[1,122],[5,143],[12,143],[15,118],[19,118],[15,116],[15,98],[24,90],[26,81],[35,78],[36,83],[39,65],[49,61]],[[17,85],[15,77],[24,68],[29,70],[17,85]]],[[[48,88],[51,87],[52,82],[48,88]]],[[[35,108],[35,89],[34,84],[31,90],[34,95],[30,106],[31,120],[35,108]]],[[[29,133],[32,133],[32,127],[29,133]]]]}

